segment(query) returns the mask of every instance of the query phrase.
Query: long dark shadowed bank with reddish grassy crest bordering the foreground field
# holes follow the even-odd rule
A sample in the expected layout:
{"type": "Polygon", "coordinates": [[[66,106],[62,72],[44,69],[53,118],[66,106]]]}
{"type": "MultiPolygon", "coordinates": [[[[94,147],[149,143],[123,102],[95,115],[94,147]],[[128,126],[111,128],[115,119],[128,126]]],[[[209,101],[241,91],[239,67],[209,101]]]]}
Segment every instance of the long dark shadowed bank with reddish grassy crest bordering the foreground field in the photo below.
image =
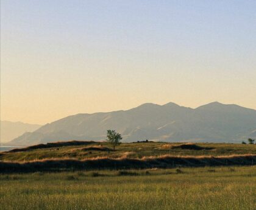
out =
{"type": "Polygon", "coordinates": [[[94,169],[149,169],[199,166],[250,166],[256,163],[256,155],[231,156],[158,156],[141,159],[92,158],[92,159],[43,159],[41,161],[0,162],[1,173],[94,170],[94,169]]]}

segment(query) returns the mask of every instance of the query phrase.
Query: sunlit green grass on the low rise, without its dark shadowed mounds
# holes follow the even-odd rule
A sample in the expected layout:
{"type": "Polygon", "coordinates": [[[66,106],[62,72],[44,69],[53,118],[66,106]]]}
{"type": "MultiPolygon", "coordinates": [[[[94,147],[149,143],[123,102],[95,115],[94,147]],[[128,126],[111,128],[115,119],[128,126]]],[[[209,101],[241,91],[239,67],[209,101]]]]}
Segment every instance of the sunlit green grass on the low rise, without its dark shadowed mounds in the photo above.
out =
{"type": "MultiPolygon", "coordinates": [[[[180,145],[181,143],[166,142],[149,142],[149,143],[130,143],[121,144],[116,147],[116,151],[83,151],[85,147],[100,146],[109,147],[106,142],[95,142],[94,144],[83,146],[66,146],[53,147],[48,149],[34,149],[26,152],[9,153],[4,152],[0,155],[0,161],[32,161],[35,159],[48,158],[142,158],[143,156],[160,156],[160,155],[240,155],[240,154],[256,154],[256,145],[244,144],[196,144],[201,147],[213,147],[212,150],[184,150],[170,149],[172,145],[180,145]]],[[[111,148],[111,147],[110,147],[111,148]]]]}

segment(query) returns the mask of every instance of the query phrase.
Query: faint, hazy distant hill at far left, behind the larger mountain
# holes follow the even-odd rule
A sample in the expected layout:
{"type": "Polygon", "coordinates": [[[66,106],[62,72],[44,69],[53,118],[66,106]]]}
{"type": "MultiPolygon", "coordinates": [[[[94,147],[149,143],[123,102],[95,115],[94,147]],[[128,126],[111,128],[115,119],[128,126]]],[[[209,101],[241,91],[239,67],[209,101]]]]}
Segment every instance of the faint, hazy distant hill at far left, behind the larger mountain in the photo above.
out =
{"type": "Polygon", "coordinates": [[[33,132],[40,127],[41,125],[26,124],[23,122],[1,121],[1,142],[11,141],[27,131],[33,132]]]}

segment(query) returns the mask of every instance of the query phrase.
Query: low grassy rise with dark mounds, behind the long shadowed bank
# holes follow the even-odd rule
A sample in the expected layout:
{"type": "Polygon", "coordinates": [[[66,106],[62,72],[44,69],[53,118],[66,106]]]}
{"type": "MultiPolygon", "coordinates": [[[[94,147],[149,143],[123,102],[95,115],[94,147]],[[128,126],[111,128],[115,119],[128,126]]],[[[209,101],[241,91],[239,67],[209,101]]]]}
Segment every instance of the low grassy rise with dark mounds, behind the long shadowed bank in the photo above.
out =
{"type": "Polygon", "coordinates": [[[27,162],[42,159],[129,158],[149,156],[256,155],[255,144],[180,144],[166,142],[122,143],[116,150],[108,142],[68,141],[39,144],[0,152],[0,161],[27,162]]]}

